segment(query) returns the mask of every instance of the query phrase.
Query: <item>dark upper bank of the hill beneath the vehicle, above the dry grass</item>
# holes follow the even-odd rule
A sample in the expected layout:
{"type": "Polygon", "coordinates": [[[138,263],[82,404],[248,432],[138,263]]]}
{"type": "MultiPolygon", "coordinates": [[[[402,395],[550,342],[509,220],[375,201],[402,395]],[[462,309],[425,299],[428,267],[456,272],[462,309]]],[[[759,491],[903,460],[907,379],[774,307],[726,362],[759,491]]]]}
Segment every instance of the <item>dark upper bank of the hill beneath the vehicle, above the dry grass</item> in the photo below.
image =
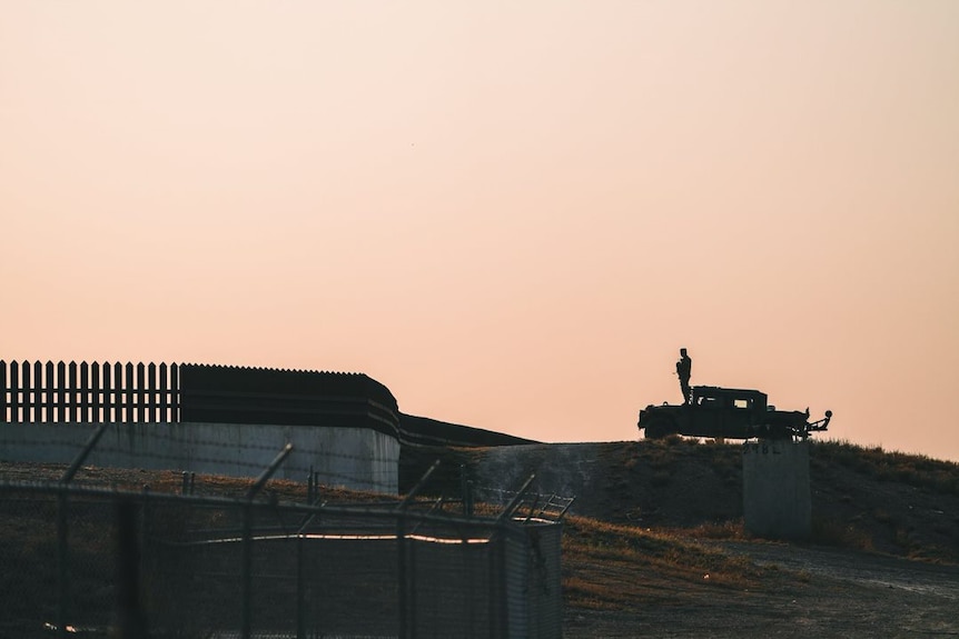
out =
{"type": "MultiPolygon", "coordinates": [[[[742,447],[658,441],[404,450],[408,489],[441,459],[427,491],[478,488],[575,497],[571,512],[650,529],[723,536],[742,520],[742,447]],[[723,530],[726,530],[723,533],[723,530]]],[[[810,450],[813,542],[959,563],[959,465],[839,442],[810,450]]]]}

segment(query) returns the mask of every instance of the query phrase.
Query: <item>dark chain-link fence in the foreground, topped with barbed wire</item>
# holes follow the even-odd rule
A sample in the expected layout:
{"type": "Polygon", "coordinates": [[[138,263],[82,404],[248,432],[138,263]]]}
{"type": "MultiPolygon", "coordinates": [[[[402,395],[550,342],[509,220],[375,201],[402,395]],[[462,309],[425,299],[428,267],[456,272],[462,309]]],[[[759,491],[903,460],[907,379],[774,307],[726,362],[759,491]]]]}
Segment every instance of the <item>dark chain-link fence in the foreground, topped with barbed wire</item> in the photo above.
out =
{"type": "Polygon", "coordinates": [[[243,498],[67,475],[0,480],[0,638],[562,633],[562,505],[526,487],[477,515],[260,498],[268,475],[243,498]]]}

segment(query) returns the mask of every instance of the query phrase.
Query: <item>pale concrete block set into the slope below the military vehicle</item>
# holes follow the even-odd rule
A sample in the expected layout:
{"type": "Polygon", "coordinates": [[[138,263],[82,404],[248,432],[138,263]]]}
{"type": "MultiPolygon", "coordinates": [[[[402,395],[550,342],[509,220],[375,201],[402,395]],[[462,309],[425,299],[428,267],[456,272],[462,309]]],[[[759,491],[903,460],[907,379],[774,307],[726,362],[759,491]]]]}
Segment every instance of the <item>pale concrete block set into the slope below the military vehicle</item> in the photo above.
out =
{"type": "Polygon", "coordinates": [[[747,532],[770,539],[809,538],[812,498],[808,442],[744,443],[742,481],[747,532]]]}

